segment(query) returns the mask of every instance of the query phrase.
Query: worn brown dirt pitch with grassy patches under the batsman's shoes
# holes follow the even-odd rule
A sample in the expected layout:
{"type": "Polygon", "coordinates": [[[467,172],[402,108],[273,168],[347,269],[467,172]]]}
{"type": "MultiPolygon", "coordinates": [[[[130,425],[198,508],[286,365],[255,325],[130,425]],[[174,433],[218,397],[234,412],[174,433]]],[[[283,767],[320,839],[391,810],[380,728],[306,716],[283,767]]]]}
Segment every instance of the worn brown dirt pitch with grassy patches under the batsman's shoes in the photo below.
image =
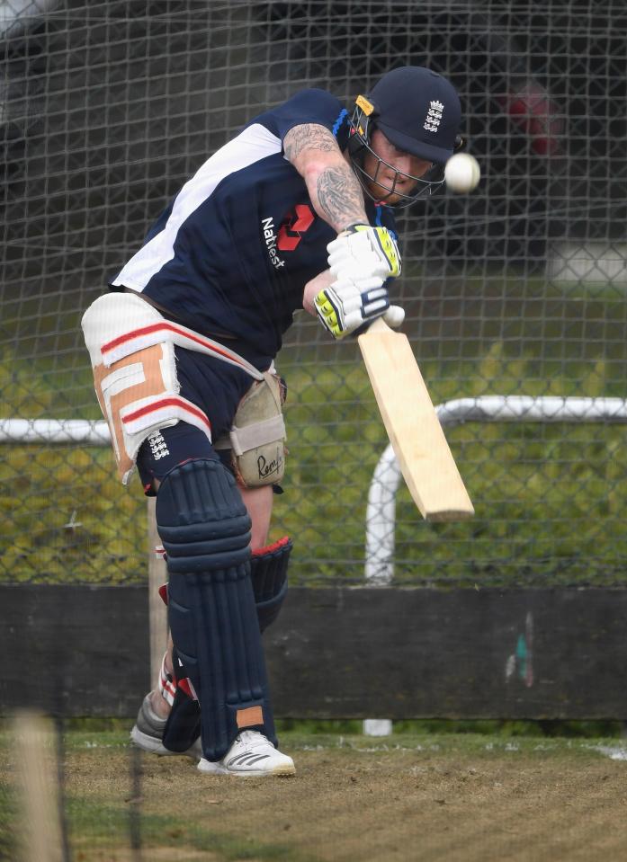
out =
{"type": "MultiPolygon", "coordinates": [[[[141,754],[138,799],[124,734],[70,734],[74,862],[627,859],[620,740],[284,733],[282,749],[293,778],[208,777],[191,760],[141,754]]],[[[11,761],[4,746],[9,783],[11,761]]]]}

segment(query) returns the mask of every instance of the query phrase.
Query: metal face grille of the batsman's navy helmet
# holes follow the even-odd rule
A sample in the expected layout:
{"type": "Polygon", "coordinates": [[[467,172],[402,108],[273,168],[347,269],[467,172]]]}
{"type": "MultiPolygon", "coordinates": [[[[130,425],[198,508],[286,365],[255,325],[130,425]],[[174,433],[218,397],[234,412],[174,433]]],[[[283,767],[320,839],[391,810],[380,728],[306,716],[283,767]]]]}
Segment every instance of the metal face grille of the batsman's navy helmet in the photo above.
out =
{"type": "Polygon", "coordinates": [[[402,171],[397,170],[393,164],[382,159],[381,156],[379,156],[371,147],[372,131],[376,128],[375,120],[373,119],[373,116],[366,116],[359,106],[355,108],[353,117],[349,121],[349,125],[351,130],[348,142],[348,153],[351,159],[351,165],[355,176],[362,186],[364,194],[366,194],[371,200],[374,200],[375,203],[385,204],[387,199],[392,195],[396,195],[399,200],[395,200],[393,204],[388,204],[388,206],[393,206],[395,209],[402,209],[404,207],[408,207],[415,200],[418,200],[418,198],[429,197],[442,187],[444,182],[444,172],[443,165],[441,164],[434,164],[427,173],[418,177],[411,173],[403,173],[402,171]],[[374,164],[376,167],[373,174],[368,173],[363,166],[366,153],[373,156],[375,160],[374,164]],[[390,180],[380,177],[383,167],[394,172],[391,183],[390,180]],[[397,188],[399,180],[401,179],[408,179],[415,183],[409,194],[399,191],[397,188]],[[382,196],[381,193],[375,194],[372,191],[371,186],[375,183],[379,186],[380,190],[385,192],[382,196]]]}

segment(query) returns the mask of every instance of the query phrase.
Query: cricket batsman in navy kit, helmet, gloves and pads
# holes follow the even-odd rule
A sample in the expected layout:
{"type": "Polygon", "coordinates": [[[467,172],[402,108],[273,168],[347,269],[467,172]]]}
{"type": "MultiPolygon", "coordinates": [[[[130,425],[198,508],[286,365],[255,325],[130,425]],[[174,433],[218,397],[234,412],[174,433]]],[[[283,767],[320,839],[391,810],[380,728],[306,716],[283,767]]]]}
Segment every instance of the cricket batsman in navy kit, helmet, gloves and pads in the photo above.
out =
{"type": "Polygon", "coordinates": [[[400,67],[346,110],[302,90],[251,120],[184,183],[83,316],[118,475],[156,495],[171,648],[131,736],[211,775],[291,775],[262,632],[291,539],[267,544],[285,463],[274,368],[305,308],[336,339],[382,316],[401,262],[394,209],[443,183],[452,84],[400,67]]]}

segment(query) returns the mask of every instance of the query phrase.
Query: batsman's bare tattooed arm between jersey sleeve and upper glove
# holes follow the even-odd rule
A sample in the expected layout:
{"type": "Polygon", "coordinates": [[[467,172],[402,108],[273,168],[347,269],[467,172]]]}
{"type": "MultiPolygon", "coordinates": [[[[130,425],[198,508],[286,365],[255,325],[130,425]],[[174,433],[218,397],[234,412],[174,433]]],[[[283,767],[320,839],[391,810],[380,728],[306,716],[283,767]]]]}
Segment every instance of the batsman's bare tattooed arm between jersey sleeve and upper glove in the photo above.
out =
{"type": "Polygon", "coordinates": [[[316,123],[294,126],[283,140],[283,149],[307,183],[318,216],[337,233],[355,223],[368,223],[362,187],[328,129],[316,123]]]}

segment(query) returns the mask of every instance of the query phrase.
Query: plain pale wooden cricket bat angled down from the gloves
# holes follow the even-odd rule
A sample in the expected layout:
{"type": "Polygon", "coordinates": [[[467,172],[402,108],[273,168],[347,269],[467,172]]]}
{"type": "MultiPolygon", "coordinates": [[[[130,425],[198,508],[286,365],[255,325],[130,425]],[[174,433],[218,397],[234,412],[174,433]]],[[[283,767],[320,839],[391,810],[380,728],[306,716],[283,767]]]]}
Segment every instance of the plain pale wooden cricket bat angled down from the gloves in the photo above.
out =
{"type": "Polygon", "coordinates": [[[357,342],[400,471],[423,517],[471,518],[475,511],[407,335],[378,317],[357,342]]]}

